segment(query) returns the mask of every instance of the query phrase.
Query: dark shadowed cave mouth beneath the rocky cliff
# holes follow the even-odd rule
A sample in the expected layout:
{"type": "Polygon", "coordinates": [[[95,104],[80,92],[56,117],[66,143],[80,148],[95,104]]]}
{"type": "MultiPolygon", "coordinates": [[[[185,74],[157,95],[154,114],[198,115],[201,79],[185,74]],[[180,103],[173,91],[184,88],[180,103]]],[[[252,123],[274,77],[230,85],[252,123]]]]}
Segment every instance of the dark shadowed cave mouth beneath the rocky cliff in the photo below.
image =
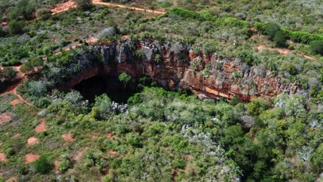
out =
{"type": "Polygon", "coordinates": [[[90,103],[95,102],[95,97],[101,94],[107,94],[111,101],[117,103],[127,103],[129,97],[138,92],[135,81],[125,85],[119,81],[117,76],[112,75],[97,75],[90,77],[74,88],[81,93],[84,99],[90,103]]]}

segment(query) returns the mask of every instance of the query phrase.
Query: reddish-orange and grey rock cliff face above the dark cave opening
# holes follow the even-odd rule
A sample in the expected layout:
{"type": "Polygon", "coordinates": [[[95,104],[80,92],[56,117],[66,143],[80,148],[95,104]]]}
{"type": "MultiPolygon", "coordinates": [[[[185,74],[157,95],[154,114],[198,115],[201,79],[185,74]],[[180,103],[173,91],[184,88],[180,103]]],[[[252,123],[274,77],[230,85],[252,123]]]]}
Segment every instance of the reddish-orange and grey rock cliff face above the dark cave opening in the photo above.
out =
{"type": "Polygon", "coordinates": [[[250,67],[239,59],[229,60],[214,54],[193,52],[186,43],[131,41],[100,43],[94,49],[103,61],[86,60],[71,85],[97,74],[146,75],[170,90],[189,88],[199,98],[238,96],[244,101],[253,97],[275,96],[282,92],[302,92],[296,84],[284,84],[261,66],[250,67]],[[85,64],[85,65],[84,65],[85,64]]]}

